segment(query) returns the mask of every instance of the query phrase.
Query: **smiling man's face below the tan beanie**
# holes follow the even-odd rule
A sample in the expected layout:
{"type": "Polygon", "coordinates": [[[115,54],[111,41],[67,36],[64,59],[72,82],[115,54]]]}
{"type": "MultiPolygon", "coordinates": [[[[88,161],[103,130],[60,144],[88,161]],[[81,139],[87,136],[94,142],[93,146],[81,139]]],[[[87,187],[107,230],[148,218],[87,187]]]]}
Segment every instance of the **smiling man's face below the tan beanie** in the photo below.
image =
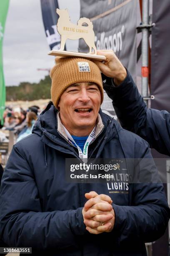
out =
{"type": "Polygon", "coordinates": [[[62,124],[72,134],[77,129],[92,130],[97,120],[100,101],[100,90],[96,84],[80,82],[70,85],[61,95],[58,104],[62,124]]]}

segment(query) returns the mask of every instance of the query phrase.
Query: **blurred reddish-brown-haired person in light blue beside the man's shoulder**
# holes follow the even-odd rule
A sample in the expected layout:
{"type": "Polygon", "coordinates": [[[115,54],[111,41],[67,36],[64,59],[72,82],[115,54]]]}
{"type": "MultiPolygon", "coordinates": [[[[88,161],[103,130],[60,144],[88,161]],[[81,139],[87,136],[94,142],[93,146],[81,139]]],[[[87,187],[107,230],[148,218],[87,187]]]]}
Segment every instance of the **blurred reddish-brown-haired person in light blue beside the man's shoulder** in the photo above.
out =
{"type": "Polygon", "coordinates": [[[28,112],[26,115],[27,126],[24,133],[20,134],[17,138],[17,142],[20,141],[22,138],[30,135],[32,133],[32,128],[37,120],[37,115],[34,112],[28,112]]]}

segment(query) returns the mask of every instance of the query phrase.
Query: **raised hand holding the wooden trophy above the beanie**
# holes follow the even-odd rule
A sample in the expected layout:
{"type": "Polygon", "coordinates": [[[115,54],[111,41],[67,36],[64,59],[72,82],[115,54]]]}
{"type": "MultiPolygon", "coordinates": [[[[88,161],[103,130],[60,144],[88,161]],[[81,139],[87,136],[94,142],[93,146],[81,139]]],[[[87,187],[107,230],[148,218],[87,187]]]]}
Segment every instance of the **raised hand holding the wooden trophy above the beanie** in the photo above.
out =
{"type": "Polygon", "coordinates": [[[100,68],[100,71],[107,77],[114,78],[116,85],[120,85],[126,78],[127,72],[123,67],[120,60],[112,50],[98,50],[98,55],[104,55],[106,57],[105,62],[94,61],[95,64],[100,68]]]}

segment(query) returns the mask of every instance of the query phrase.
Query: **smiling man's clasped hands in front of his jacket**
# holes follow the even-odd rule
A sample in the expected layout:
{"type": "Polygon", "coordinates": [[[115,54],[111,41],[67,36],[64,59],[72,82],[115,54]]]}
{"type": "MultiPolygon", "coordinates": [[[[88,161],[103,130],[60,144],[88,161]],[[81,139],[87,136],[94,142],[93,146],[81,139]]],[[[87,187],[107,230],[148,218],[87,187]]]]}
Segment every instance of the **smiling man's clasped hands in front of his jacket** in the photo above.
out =
{"type": "Polygon", "coordinates": [[[91,191],[85,194],[88,201],[82,209],[86,230],[92,234],[111,232],[115,224],[115,212],[108,195],[91,191]]]}

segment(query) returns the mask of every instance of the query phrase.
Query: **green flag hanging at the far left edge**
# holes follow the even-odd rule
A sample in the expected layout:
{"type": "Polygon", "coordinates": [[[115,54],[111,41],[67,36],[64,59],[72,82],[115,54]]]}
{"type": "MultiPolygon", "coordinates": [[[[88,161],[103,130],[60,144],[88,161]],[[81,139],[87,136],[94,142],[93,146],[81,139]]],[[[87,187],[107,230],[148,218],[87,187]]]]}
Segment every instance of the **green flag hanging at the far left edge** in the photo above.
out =
{"type": "Polygon", "coordinates": [[[8,6],[9,6],[9,0],[0,0],[0,121],[1,121],[1,124],[3,123],[3,112],[5,109],[5,100],[6,100],[6,90],[5,90],[5,81],[4,81],[3,63],[2,63],[2,42],[3,42],[8,6]]]}

